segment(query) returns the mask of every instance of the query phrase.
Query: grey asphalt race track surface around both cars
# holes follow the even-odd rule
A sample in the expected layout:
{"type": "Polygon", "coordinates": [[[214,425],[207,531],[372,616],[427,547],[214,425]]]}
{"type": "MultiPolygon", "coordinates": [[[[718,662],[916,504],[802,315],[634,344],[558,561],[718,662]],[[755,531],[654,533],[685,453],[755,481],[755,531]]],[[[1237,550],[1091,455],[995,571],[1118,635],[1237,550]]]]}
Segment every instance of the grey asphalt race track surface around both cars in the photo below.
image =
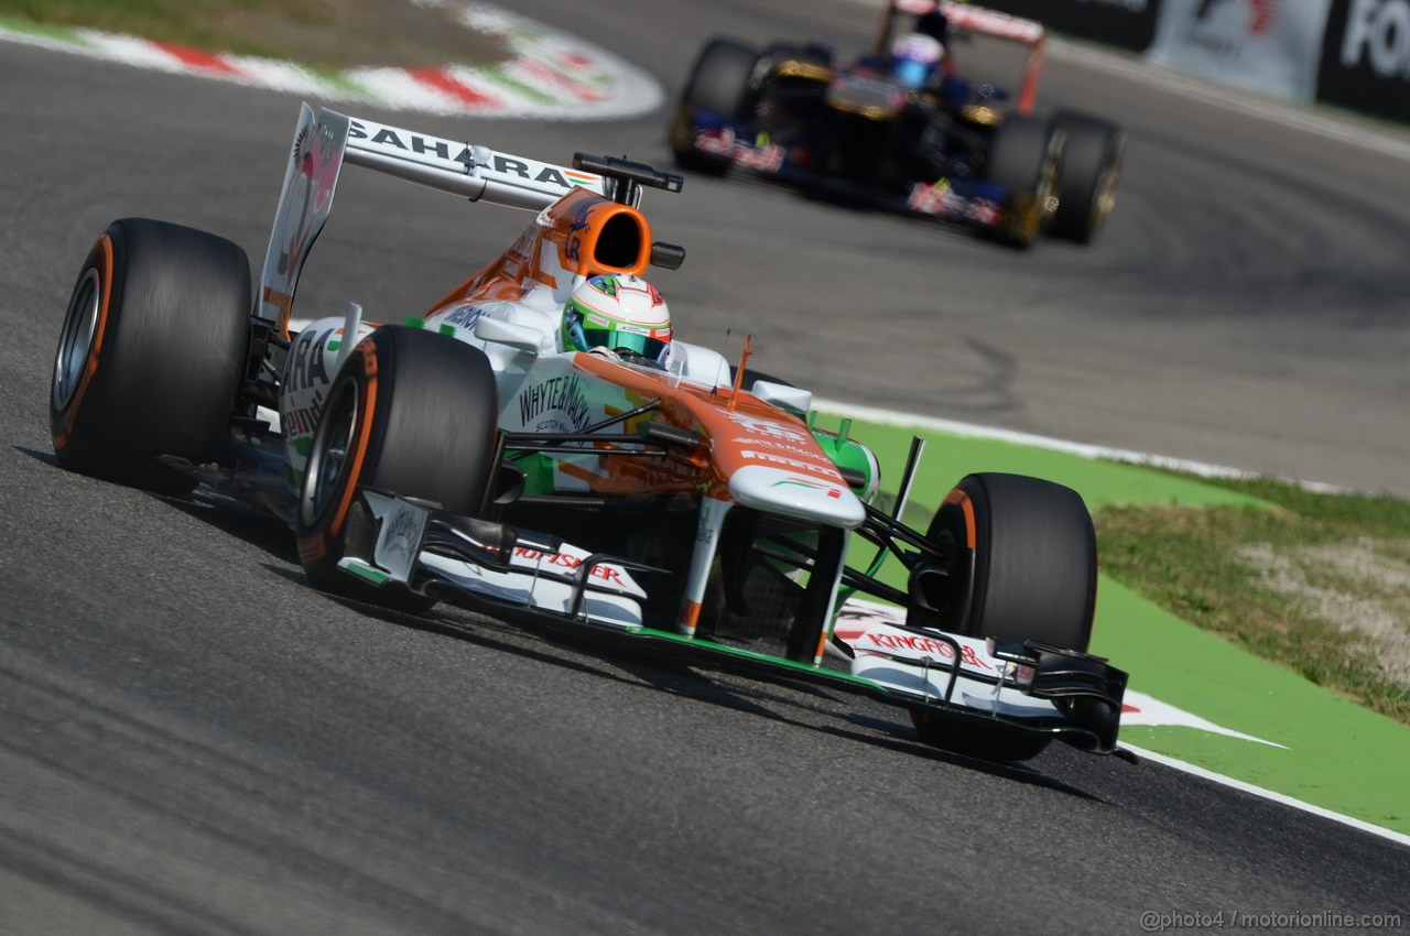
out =
{"type": "MultiPolygon", "coordinates": [[[[522,6],[671,89],[721,23],[799,34],[784,4],[522,6]]],[[[816,38],[870,32],[809,10],[816,38]]],[[[689,250],[657,278],[681,333],[752,330],[759,367],[832,398],[1404,493],[1403,164],[1062,62],[1049,79],[1131,130],[1096,250],[1019,255],[692,178],[647,203],[689,250]]],[[[1410,851],[1324,819],[1067,749],[946,756],[880,705],[347,606],[258,515],[61,471],[45,395],[87,245],[145,214],[261,257],[296,101],[21,47],[0,87],[0,932],[1410,919],[1410,851]]],[[[660,114],[365,116],[547,159],[666,156],[660,114]]],[[[348,172],[303,313],[415,314],[525,220],[348,172]]]]}

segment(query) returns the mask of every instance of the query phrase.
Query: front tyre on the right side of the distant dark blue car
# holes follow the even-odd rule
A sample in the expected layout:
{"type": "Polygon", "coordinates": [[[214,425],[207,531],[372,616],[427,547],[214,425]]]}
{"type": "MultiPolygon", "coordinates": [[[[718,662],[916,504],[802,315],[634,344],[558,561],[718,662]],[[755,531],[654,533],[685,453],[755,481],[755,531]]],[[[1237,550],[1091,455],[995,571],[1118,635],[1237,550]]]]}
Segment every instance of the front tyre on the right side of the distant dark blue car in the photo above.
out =
{"type": "Polygon", "coordinates": [[[1010,190],[998,234],[1014,247],[1031,247],[1052,217],[1063,142],[1060,128],[1038,117],[1008,117],[994,133],[984,180],[1010,190]]]}

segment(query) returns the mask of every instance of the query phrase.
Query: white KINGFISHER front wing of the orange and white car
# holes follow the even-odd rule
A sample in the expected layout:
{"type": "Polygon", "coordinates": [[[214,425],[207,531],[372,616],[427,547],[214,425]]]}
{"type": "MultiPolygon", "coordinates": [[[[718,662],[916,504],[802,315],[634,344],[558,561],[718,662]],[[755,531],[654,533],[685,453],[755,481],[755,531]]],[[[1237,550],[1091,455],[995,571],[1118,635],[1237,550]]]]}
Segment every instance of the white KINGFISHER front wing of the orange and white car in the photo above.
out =
{"type": "Polygon", "coordinates": [[[653,644],[691,665],[823,685],[912,712],[1003,723],[1087,751],[1118,753],[1115,713],[1127,674],[1100,657],[908,627],[902,609],[850,601],[830,634],[833,658],[799,663],[649,626],[637,577],[650,581],[667,569],[393,495],[364,489],[360,498],[379,531],[369,555],[347,555],[340,567],[374,585],[410,588],[505,620],[653,644]],[[1112,715],[1083,715],[1091,709],[1112,715]]]}

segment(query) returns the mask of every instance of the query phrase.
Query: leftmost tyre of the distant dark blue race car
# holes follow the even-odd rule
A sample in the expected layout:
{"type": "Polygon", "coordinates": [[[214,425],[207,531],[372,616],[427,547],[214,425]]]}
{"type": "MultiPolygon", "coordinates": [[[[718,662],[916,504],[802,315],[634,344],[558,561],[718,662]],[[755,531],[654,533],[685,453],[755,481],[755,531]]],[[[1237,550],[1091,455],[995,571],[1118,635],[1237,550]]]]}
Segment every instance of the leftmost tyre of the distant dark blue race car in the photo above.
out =
{"type": "Polygon", "coordinates": [[[671,120],[671,154],[675,165],[708,175],[725,175],[732,161],[699,152],[691,142],[695,114],[706,111],[722,120],[744,123],[753,104],[754,68],[759,52],[733,39],[715,38],[705,44],[681,92],[671,120]]]}

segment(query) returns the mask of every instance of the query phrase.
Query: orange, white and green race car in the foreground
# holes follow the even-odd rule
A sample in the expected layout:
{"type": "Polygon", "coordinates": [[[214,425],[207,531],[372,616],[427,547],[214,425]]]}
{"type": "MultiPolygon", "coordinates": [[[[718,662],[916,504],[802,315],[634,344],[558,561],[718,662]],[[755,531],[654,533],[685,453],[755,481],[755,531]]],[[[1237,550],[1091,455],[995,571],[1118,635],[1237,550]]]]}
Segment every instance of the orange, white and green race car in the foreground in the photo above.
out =
{"type": "Polygon", "coordinates": [[[309,578],[358,601],[447,601],[867,695],[981,757],[1055,737],[1117,751],[1125,674],[1086,653],[1097,567],[1077,493],[971,475],[921,533],[897,519],[916,443],[877,507],[846,421],[823,429],[747,350],[732,368],[673,340],[642,275],[684,251],[653,241],[647,187],[681,178],[305,106],[254,303],[244,251],[213,234],[127,218],[93,245],[54,371],[58,460],[266,509],[309,578]],[[344,164],[536,214],[424,319],[375,326],[350,304],[292,331],[344,164]],[[877,557],[852,568],[849,547],[877,557]],[[887,555],[904,588],[877,578],[887,555]]]}

